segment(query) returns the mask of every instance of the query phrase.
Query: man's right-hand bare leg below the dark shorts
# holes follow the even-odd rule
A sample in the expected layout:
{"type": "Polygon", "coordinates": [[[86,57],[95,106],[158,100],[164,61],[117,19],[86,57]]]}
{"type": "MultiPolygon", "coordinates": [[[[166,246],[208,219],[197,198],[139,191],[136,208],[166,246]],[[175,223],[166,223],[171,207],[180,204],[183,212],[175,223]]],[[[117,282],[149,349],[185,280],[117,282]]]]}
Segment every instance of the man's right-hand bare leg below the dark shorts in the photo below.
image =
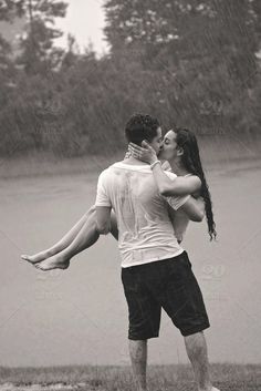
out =
{"type": "Polygon", "coordinates": [[[184,337],[188,358],[192,364],[198,391],[211,391],[208,350],[202,331],[184,337]]]}

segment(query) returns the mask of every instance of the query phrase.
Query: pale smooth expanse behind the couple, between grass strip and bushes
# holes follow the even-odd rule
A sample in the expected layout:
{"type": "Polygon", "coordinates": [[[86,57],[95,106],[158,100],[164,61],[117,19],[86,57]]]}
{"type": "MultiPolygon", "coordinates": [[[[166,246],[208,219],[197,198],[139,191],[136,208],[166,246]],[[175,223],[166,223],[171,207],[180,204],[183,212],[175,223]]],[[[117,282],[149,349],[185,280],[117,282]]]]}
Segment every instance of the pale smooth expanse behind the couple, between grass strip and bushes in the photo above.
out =
{"type": "MultiPolygon", "coordinates": [[[[3,168],[3,167],[2,167],[3,168]]],[[[93,204],[98,172],[12,176],[0,188],[0,364],[127,364],[127,307],[116,241],[102,237],[65,271],[42,272],[20,260],[59,240],[93,204]]],[[[206,222],[184,241],[211,327],[212,362],[260,362],[259,160],[209,167],[218,241],[206,222]]],[[[163,312],[150,363],[188,362],[179,331],[163,312]]]]}

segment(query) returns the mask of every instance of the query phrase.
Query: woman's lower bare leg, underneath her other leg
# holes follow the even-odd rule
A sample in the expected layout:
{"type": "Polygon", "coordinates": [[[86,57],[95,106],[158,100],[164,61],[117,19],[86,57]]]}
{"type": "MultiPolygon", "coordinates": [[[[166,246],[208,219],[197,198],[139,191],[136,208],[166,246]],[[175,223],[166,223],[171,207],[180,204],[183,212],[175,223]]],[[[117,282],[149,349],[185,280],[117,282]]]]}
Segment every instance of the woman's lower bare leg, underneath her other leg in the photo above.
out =
{"type": "MultiPolygon", "coordinates": [[[[111,214],[111,233],[117,240],[118,230],[115,214],[111,214]]],[[[76,254],[83,251],[84,249],[91,247],[95,241],[97,241],[100,234],[96,229],[96,215],[95,207],[88,215],[86,223],[80,229],[79,234],[74,240],[62,251],[56,255],[42,260],[41,263],[34,264],[38,269],[41,270],[52,270],[52,269],[66,269],[70,265],[70,260],[76,254]]]]}

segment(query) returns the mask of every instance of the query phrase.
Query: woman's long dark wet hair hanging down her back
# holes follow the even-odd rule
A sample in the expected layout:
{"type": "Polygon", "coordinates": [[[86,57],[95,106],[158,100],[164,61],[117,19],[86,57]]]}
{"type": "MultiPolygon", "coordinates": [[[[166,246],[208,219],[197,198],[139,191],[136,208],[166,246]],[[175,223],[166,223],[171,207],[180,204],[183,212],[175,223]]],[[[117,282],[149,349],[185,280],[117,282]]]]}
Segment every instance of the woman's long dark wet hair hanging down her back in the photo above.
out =
{"type": "Polygon", "coordinates": [[[216,231],[216,223],[213,220],[212,202],[211,202],[209,187],[203,174],[196,135],[191,131],[182,127],[174,128],[174,132],[177,134],[177,137],[176,137],[177,145],[182,147],[184,150],[184,154],[181,155],[181,162],[185,168],[189,173],[197,175],[201,181],[200,195],[202,196],[205,202],[207,223],[208,223],[208,233],[210,236],[210,240],[212,240],[212,238],[216,239],[217,231],[216,231]]]}

